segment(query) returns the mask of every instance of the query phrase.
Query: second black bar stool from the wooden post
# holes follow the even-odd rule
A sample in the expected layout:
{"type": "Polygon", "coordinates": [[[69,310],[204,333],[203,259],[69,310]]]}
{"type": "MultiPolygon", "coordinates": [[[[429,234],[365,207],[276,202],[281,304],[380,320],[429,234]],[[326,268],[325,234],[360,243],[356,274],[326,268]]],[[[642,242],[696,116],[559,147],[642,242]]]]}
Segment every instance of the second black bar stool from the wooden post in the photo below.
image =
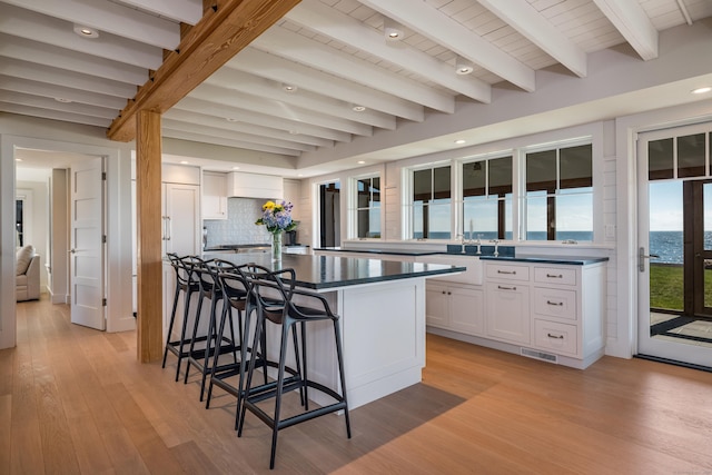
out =
{"type": "Polygon", "coordinates": [[[218,301],[224,303],[224,294],[217,281],[217,274],[221,269],[233,268],[233,264],[226,260],[212,259],[209,261],[201,261],[191,267],[191,273],[195,279],[200,285],[200,296],[198,297],[198,308],[196,309],[196,318],[192,327],[192,339],[190,342],[190,349],[188,352],[188,364],[186,365],[186,375],[184,383],[188,383],[188,376],[190,374],[190,366],[195,366],[200,372],[200,402],[205,395],[205,385],[208,373],[211,370],[210,358],[215,355],[221,355],[225,353],[233,354],[233,363],[237,364],[237,349],[239,348],[237,340],[235,339],[235,328],[233,320],[229,319],[229,336],[217,333],[217,305],[218,301]],[[205,299],[210,301],[210,311],[208,316],[208,331],[205,337],[205,348],[202,350],[195,350],[195,344],[201,339],[198,337],[198,330],[200,325],[200,317],[202,310],[202,303],[205,299]]]}

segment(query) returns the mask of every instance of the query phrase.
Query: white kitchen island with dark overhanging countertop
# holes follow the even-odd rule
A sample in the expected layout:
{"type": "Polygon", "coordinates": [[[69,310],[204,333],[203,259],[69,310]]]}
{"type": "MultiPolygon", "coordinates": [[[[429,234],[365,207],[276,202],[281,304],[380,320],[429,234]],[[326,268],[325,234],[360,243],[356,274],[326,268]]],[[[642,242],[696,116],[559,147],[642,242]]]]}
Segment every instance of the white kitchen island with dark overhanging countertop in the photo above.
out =
{"type": "MultiPolygon", "coordinates": [[[[342,317],[349,408],[421,382],[425,366],[425,279],[465,270],[439,264],[333,256],[284,255],[279,264],[273,264],[269,254],[204,256],[212,257],[236,265],[256,263],[274,270],[293,268],[298,287],[327,298],[332,310],[342,317]]],[[[309,378],[337,388],[330,324],[319,321],[309,327],[309,378]]],[[[278,335],[277,328],[268,327],[270,359],[277,356],[278,335]]]]}

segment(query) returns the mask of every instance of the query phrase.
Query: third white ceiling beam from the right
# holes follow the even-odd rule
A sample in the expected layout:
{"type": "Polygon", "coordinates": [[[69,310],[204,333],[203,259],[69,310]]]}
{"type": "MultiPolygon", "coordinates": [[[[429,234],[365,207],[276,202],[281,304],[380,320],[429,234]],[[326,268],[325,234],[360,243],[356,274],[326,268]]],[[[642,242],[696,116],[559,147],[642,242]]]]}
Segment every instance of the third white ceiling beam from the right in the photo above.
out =
{"type": "Polygon", "coordinates": [[[532,92],[535,89],[534,70],[503,52],[490,41],[431,7],[425,1],[358,0],[388,18],[429,38],[437,44],[455,51],[492,71],[502,79],[532,92]]]}

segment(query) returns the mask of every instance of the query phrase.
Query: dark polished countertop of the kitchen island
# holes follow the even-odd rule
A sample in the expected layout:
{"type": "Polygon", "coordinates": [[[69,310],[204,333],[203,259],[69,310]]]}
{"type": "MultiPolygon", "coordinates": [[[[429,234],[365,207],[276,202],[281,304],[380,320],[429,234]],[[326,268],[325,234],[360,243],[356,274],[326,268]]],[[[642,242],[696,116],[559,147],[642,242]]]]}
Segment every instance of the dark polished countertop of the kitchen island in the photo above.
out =
{"type": "Polygon", "coordinates": [[[280,265],[271,263],[269,253],[216,254],[214,256],[207,253],[204,258],[222,259],[236,265],[256,263],[270,269],[293,268],[297,275],[298,286],[316,290],[412,277],[464,273],[466,270],[466,267],[442,264],[399,263],[356,257],[298,254],[283,255],[280,265]]]}

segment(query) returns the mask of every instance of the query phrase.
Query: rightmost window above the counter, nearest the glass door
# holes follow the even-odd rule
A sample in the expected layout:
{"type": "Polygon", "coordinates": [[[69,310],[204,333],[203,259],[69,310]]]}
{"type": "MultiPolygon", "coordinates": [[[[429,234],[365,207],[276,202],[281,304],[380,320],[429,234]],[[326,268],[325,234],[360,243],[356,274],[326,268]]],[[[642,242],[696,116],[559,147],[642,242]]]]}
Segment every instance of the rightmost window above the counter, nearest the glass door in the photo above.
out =
{"type": "Polygon", "coordinates": [[[593,240],[592,146],[527,152],[526,239],[593,240]]]}

